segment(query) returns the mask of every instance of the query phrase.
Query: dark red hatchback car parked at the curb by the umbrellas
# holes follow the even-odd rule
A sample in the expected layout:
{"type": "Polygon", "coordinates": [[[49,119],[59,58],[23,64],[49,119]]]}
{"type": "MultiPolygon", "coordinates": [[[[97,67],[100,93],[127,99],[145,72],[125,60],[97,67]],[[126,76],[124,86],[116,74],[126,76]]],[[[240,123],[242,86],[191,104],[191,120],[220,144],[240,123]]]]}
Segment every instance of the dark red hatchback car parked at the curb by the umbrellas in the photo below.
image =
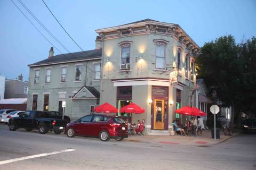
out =
{"type": "Polygon", "coordinates": [[[121,141],[128,138],[128,126],[120,117],[93,114],[68,123],[65,134],[70,138],[77,135],[100,138],[102,141],[109,141],[111,138],[121,141]]]}

